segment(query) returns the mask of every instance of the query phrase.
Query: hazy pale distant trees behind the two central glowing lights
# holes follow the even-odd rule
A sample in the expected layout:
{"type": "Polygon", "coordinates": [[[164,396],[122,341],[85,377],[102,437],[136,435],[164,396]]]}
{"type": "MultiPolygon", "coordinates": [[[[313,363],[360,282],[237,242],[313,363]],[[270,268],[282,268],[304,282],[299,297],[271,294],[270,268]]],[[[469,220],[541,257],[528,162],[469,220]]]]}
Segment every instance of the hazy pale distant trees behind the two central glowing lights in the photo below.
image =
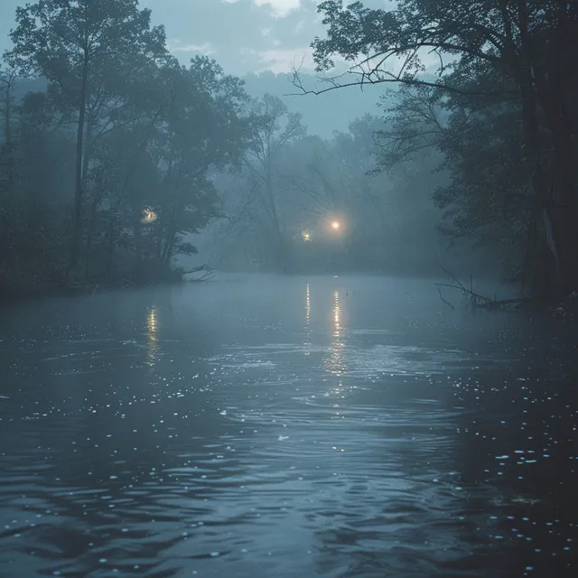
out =
{"type": "MultiPolygon", "coordinates": [[[[300,97],[297,97],[299,103],[300,97]]],[[[295,102],[295,101],[293,101],[295,102]]],[[[289,104],[292,104],[290,102],[289,104]]],[[[419,166],[378,171],[374,135],[382,118],[366,115],[331,139],[307,135],[301,117],[265,95],[237,172],[219,175],[227,216],[209,228],[203,256],[216,266],[314,273],[439,272],[447,246],[436,230],[431,196],[436,154],[419,166]],[[335,225],[337,228],[333,228],[335,225]]]]}

